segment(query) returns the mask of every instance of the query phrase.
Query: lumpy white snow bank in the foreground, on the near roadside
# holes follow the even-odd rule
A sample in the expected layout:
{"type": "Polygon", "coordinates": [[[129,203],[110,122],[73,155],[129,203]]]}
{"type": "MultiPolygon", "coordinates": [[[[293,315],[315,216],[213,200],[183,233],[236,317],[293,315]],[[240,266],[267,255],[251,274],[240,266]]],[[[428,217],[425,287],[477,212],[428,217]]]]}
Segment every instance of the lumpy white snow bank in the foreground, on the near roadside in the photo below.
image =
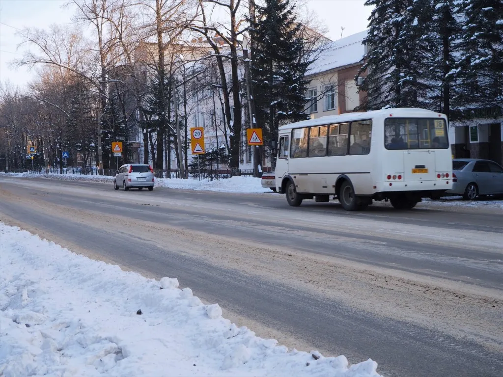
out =
{"type": "Polygon", "coordinates": [[[1,223],[0,251],[5,377],[379,376],[371,359],[349,366],[345,356],[289,351],[178,281],[124,272],[1,223]]]}

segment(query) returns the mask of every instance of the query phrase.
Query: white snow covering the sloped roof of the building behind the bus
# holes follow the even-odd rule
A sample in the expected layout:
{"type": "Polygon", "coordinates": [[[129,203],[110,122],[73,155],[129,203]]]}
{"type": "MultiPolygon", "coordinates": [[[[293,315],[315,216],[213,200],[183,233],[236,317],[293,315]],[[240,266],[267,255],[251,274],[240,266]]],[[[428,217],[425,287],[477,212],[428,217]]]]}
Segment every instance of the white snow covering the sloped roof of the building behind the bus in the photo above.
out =
{"type": "Polygon", "coordinates": [[[367,30],[329,42],[318,59],[309,66],[307,74],[325,72],[358,63],[365,55],[365,46],[362,41],[366,36],[367,30]]]}

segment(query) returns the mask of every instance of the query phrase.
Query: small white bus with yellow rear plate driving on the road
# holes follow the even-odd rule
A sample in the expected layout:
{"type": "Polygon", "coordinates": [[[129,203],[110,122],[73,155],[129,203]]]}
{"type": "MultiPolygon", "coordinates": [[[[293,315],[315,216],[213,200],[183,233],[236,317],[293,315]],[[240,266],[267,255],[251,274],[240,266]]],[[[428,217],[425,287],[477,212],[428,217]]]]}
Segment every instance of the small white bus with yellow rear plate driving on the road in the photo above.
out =
{"type": "Polygon", "coordinates": [[[411,209],[452,186],[447,117],[423,109],[327,116],[279,128],[276,190],[290,206],[338,198],[347,211],[411,209]]]}

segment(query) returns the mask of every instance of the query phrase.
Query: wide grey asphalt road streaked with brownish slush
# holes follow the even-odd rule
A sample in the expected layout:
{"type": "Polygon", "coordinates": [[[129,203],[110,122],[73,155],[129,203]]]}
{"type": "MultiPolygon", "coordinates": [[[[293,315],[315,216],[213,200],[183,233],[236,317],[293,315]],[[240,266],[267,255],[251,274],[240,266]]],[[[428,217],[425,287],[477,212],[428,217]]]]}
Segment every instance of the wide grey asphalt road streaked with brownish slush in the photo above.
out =
{"type": "Polygon", "coordinates": [[[503,210],[311,202],[0,177],[0,220],[177,277],[260,336],[385,376],[502,375],[503,210]]]}

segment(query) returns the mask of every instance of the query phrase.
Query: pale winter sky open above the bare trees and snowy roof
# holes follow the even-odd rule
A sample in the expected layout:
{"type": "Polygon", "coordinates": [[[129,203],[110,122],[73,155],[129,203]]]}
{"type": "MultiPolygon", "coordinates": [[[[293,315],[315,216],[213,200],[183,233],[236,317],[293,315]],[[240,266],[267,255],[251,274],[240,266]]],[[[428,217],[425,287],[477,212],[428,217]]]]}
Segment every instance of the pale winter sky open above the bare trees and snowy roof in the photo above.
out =
{"type": "MultiPolygon", "coordinates": [[[[47,28],[51,24],[69,23],[73,8],[62,8],[67,0],[0,0],[0,82],[6,80],[22,88],[33,77],[26,68],[13,68],[9,63],[22,57],[25,49],[16,29],[47,28]]],[[[371,8],[365,0],[308,0],[309,9],[328,27],[331,40],[347,37],[367,28],[371,8]],[[344,30],[341,28],[344,27],[344,30]]]]}

